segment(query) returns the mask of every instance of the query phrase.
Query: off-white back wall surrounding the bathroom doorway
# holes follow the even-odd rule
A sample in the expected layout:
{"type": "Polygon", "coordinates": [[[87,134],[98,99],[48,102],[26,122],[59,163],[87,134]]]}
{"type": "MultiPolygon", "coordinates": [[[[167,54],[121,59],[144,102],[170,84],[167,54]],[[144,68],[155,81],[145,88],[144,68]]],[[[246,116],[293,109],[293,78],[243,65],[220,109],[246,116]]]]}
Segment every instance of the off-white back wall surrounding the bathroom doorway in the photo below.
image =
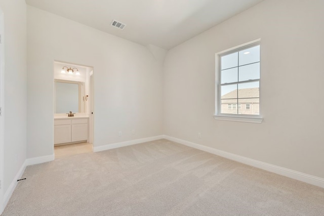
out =
{"type": "Polygon", "coordinates": [[[161,65],[146,47],[27,6],[27,158],[53,154],[53,61],[94,68],[95,147],[163,134],[161,65]]]}

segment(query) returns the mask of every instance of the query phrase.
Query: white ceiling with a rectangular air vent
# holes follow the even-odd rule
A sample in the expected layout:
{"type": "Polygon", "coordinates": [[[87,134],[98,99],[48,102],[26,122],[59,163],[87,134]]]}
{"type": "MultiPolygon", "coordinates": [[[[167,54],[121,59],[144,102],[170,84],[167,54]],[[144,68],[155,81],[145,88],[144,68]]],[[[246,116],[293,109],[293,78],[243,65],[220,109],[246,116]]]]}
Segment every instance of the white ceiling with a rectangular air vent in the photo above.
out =
{"type": "Polygon", "coordinates": [[[26,0],[101,31],[170,49],[263,0],[26,0]],[[110,26],[115,19],[127,26],[110,26]]]}

